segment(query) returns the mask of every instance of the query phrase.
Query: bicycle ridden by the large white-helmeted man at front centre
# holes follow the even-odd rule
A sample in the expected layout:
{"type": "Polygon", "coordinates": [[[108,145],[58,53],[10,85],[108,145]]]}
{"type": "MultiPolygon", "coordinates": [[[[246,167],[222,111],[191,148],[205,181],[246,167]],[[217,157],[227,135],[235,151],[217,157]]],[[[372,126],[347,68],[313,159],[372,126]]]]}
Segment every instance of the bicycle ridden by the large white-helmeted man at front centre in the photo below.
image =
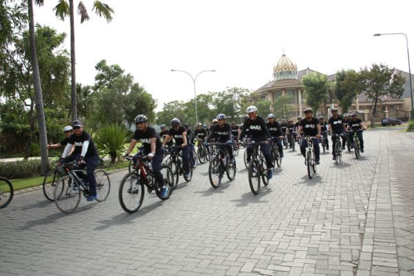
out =
{"type": "Polygon", "coordinates": [[[268,186],[269,184],[266,161],[264,160],[262,151],[259,153],[260,144],[264,144],[264,141],[251,141],[248,143],[248,146],[254,146],[253,153],[248,164],[248,184],[250,186],[250,190],[252,190],[253,195],[257,195],[260,191],[261,178],[264,186],[268,186]]]}

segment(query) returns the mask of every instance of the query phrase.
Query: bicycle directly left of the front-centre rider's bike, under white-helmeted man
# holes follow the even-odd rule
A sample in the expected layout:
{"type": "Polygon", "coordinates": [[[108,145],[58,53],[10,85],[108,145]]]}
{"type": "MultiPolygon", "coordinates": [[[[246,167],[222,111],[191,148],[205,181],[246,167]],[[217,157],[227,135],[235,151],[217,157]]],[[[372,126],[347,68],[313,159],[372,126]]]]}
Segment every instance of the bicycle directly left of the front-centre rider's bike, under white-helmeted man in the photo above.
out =
{"type": "Polygon", "coordinates": [[[228,180],[232,181],[236,177],[236,160],[230,162],[230,157],[226,149],[222,150],[219,146],[224,146],[226,143],[211,143],[210,151],[214,152],[208,166],[208,178],[213,188],[219,188],[224,172],[226,172],[228,180]]]}

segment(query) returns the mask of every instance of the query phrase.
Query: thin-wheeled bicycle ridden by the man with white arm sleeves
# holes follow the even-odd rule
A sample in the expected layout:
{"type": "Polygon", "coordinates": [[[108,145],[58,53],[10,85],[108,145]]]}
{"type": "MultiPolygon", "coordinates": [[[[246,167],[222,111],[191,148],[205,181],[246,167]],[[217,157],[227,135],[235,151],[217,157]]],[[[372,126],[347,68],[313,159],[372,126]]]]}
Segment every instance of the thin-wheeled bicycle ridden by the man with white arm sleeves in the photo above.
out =
{"type": "MultiPolygon", "coordinates": [[[[81,194],[83,197],[90,195],[88,184],[86,184],[76,172],[86,173],[86,170],[79,169],[76,161],[62,164],[66,175],[61,177],[56,184],[54,191],[55,204],[63,213],[72,213],[79,206],[81,194]]],[[[110,191],[110,179],[105,170],[97,169],[94,172],[97,181],[97,201],[105,201],[110,191]]]]}

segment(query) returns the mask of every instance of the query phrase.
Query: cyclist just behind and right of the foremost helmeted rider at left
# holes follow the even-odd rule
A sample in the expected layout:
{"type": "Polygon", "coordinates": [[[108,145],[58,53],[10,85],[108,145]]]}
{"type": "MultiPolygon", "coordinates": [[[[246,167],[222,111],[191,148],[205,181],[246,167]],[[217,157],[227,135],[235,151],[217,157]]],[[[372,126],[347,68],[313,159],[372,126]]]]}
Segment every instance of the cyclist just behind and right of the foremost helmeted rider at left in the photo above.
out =
{"type": "Polygon", "coordinates": [[[177,146],[181,146],[181,148],[175,149],[175,152],[178,154],[182,150],[182,157],[183,157],[183,170],[184,170],[184,177],[188,178],[190,175],[190,162],[188,160],[188,147],[187,147],[187,132],[184,126],[180,126],[181,121],[179,119],[174,118],[171,120],[170,130],[168,130],[168,135],[166,139],[162,142],[162,146],[166,146],[170,139],[175,139],[175,144],[177,146]]]}

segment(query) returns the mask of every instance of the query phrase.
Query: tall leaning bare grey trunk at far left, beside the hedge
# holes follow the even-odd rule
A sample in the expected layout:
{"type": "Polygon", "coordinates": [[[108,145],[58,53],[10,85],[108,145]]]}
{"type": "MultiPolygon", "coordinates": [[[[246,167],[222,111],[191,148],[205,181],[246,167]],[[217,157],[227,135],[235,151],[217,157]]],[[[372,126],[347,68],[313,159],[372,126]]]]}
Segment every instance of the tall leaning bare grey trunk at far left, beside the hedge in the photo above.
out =
{"type": "Polygon", "coordinates": [[[41,165],[40,172],[41,175],[46,175],[48,171],[48,137],[46,134],[46,120],[45,120],[45,111],[43,109],[43,97],[41,94],[41,85],[40,85],[40,75],[39,75],[39,65],[37,63],[37,52],[36,52],[36,41],[34,34],[34,18],[33,18],[33,2],[28,0],[28,15],[29,15],[29,32],[30,32],[30,55],[32,59],[32,68],[33,68],[33,86],[34,94],[36,99],[36,109],[37,109],[37,123],[39,124],[39,143],[40,143],[40,155],[41,155],[41,165]]]}

